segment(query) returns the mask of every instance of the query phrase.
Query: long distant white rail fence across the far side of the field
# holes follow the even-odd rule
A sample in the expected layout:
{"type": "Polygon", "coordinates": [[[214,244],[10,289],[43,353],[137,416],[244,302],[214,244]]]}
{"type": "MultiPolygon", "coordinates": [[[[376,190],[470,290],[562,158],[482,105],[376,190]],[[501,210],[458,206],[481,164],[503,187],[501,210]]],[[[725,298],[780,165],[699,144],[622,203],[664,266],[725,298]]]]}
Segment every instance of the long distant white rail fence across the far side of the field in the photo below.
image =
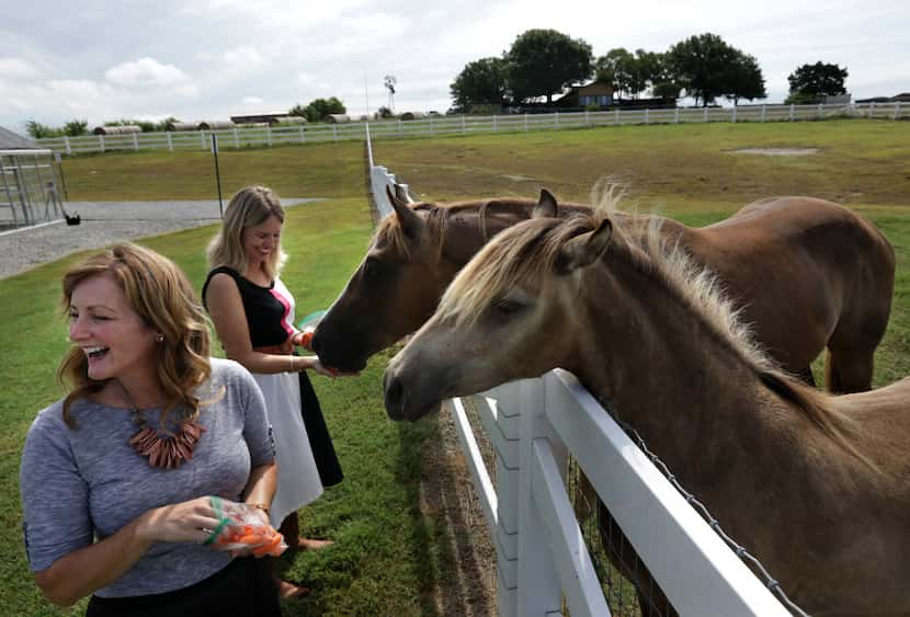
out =
{"type": "Polygon", "coordinates": [[[633,124],[681,124],[707,122],[795,122],[835,117],[881,119],[910,118],[910,104],[857,103],[832,105],[739,105],[671,110],[613,110],[553,114],[510,114],[501,116],[440,116],[414,121],[319,124],[278,127],[235,127],[223,130],[134,133],[39,139],[42,147],[77,155],[123,150],[209,150],[211,135],[220,149],[269,147],[286,144],[362,140],[367,132],[374,139],[400,139],[445,135],[558,130],[593,126],[633,124]]]}

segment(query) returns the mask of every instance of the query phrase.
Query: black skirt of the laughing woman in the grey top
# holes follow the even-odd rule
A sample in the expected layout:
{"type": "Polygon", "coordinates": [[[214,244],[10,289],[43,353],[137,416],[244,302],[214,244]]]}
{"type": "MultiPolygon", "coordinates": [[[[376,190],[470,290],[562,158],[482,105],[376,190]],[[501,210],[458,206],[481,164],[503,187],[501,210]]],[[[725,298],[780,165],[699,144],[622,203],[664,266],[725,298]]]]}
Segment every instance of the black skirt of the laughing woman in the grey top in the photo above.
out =
{"type": "Polygon", "coordinates": [[[86,617],[281,617],[270,565],[265,559],[238,557],[209,578],[182,590],[129,597],[93,595],[86,617]]]}

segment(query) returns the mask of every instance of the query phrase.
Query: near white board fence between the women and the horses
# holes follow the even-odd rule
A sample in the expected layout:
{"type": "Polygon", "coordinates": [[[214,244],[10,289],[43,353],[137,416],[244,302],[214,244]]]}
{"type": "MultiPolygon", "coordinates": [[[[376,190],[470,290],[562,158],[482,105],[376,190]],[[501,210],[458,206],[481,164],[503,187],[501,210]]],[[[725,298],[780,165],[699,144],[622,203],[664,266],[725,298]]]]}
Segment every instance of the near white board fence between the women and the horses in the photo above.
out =
{"type": "MultiPolygon", "coordinates": [[[[386,187],[396,190],[395,176],[373,163],[368,140],[367,152],[382,217],[391,212],[386,187]]],[[[410,201],[407,187],[397,194],[410,201]]],[[[492,475],[465,402],[446,407],[496,547],[499,615],[561,615],[564,597],[572,617],[610,615],[569,501],[569,455],[680,615],[790,614],[570,373],[470,400],[494,448],[492,475]]]]}

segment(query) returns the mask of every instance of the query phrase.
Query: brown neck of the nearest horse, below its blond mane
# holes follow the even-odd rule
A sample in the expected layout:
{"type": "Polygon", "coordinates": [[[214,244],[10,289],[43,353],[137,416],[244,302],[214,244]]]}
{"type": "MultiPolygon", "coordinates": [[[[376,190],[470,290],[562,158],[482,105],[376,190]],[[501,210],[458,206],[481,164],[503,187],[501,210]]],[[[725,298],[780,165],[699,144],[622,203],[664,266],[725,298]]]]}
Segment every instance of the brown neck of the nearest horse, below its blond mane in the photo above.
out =
{"type": "Polygon", "coordinates": [[[585,276],[583,304],[595,308],[581,327],[593,335],[569,368],[655,452],[691,477],[764,432],[757,401],[780,401],[757,395],[755,369],[704,318],[623,260],[585,276]]]}

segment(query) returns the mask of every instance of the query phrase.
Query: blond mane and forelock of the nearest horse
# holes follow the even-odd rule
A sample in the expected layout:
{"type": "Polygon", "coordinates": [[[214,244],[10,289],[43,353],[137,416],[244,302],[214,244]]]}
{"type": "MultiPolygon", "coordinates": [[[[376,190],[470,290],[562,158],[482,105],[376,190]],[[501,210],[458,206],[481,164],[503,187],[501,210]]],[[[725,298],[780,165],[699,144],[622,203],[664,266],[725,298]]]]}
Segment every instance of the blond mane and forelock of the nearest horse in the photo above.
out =
{"type": "Polygon", "coordinates": [[[608,218],[613,224],[610,259],[629,264],[678,298],[720,345],[751,367],[766,388],[794,403],[826,435],[872,466],[849,439],[854,432],[852,421],[828,403],[830,396],[783,373],[755,343],[717,276],[696,264],[678,242],[669,242],[661,235],[661,217],[623,216],[623,197],[615,186],[606,186],[590,215],[532,219],[501,232],[452,282],[437,317],[452,320],[456,328],[476,322],[509,288],[543,281],[556,272],[566,242],[596,229],[608,218]]]}

